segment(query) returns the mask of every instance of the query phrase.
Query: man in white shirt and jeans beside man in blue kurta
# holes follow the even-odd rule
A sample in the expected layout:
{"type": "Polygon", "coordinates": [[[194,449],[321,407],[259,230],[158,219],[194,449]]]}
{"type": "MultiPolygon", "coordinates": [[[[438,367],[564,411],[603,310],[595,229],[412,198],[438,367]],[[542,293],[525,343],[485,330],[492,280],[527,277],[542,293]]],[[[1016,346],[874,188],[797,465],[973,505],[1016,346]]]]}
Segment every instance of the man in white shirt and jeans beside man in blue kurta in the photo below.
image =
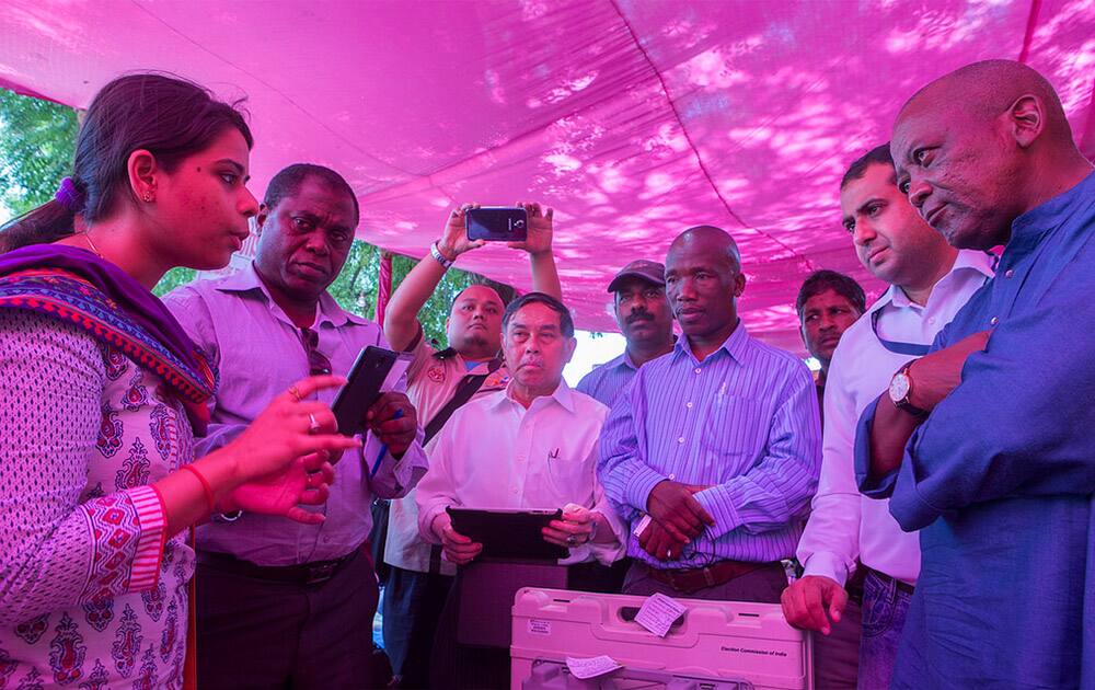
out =
{"type": "Polygon", "coordinates": [[[901,530],[885,502],[860,495],[854,440],[860,414],[894,371],[925,354],[940,330],[992,276],[992,257],[957,251],[897,188],[888,145],[852,163],[841,181],[841,214],[855,253],[890,285],[835,348],[826,394],[821,479],[798,543],[805,568],[783,593],[793,625],[814,639],[815,683],[864,690],[889,686],[894,656],[920,573],[918,536],[901,530]],[[854,571],[858,586],[849,586],[854,571]],[[856,601],[858,599],[858,601],[856,601]],[[858,634],[860,611],[866,622],[858,634]],[[842,644],[856,640],[854,645],[842,644]]]}

